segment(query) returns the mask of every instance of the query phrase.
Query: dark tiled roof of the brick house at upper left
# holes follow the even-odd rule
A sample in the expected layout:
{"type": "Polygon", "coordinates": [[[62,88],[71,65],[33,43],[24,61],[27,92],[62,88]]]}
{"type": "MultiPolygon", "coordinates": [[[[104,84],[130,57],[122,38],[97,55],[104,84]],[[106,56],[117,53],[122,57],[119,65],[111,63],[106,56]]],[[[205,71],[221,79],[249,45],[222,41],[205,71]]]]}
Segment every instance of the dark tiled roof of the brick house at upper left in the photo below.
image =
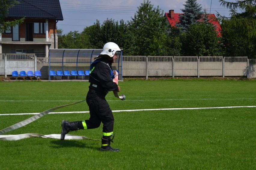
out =
{"type": "Polygon", "coordinates": [[[16,0],[20,4],[9,9],[6,18],[43,18],[63,20],[59,0],[16,0]]]}

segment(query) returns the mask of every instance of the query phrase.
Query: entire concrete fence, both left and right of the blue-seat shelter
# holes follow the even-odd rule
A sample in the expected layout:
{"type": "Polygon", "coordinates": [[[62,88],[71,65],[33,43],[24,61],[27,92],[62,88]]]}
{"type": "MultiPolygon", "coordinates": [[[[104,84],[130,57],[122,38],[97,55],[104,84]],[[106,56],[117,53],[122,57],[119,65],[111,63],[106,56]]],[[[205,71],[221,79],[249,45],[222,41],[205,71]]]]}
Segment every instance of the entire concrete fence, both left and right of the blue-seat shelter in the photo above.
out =
{"type": "MultiPolygon", "coordinates": [[[[88,63],[88,66],[90,63],[88,63]]],[[[48,58],[35,54],[0,54],[0,75],[12,71],[40,70],[42,77],[49,76],[48,58]]],[[[120,72],[120,70],[119,70],[120,72]]],[[[125,77],[152,76],[244,76],[256,78],[256,59],[247,57],[198,56],[123,56],[122,73],[125,77]]]]}

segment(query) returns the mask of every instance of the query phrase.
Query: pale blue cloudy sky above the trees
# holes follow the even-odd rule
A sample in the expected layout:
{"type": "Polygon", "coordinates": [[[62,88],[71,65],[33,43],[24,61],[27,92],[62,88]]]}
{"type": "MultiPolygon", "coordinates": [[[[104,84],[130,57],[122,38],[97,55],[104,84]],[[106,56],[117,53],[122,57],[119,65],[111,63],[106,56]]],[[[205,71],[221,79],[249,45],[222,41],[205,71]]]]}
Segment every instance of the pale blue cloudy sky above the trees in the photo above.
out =
{"type": "MultiPolygon", "coordinates": [[[[159,6],[163,12],[174,10],[175,13],[181,13],[184,9],[186,0],[151,0],[155,8],[159,6]]],[[[84,28],[93,25],[96,20],[102,24],[107,19],[113,19],[115,22],[123,19],[125,22],[134,18],[138,7],[143,0],[59,0],[63,21],[57,22],[57,28],[62,29],[62,34],[70,31],[83,31],[84,28]]],[[[197,0],[207,13],[214,13],[215,16],[220,13],[227,16],[229,9],[221,6],[219,0],[197,0]]]]}

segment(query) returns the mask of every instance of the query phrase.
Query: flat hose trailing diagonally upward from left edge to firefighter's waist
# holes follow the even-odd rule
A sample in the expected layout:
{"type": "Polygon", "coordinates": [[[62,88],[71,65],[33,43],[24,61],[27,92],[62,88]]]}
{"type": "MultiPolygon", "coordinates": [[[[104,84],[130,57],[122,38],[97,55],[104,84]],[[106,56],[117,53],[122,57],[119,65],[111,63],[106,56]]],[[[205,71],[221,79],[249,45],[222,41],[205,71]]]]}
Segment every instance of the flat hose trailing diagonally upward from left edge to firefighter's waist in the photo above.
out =
{"type": "MultiPolygon", "coordinates": [[[[85,100],[82,100],[82,101],[85,101],[85,100]]],[[[56,109],[59,109],[59,108],[62,108],[62,107],[66,107],[66,106],[69,106],[69,105],[72,105],[72,104],[77,104],[77,103],[80,103],[82,101],[78,101],[78,102],[75,102],[75,103],[66,104],[66,105],[62,105],[62,106],[51,108],[49,110],[45,110],[42,113],[39,113],[39,114],[37,114],[35,116],[30,117],[29,119],[23,120],[23,121],[21,121],[19,123],[16,123],[16,124],[11,125],[11,126],[5,128],[5,129],[0,130],[0,135],[2,135],[3,133],[9,132],[9,131],[18,129],[20,127],[23,127],[23,126],[25,126],[25,125],[27,125],[27,124],[29,124],[29,123],[31,123],[31,122],[41,118],[42,116],[46,115],[47,113],[50,113],[53,110],[56,110],[56,109]]]]}

